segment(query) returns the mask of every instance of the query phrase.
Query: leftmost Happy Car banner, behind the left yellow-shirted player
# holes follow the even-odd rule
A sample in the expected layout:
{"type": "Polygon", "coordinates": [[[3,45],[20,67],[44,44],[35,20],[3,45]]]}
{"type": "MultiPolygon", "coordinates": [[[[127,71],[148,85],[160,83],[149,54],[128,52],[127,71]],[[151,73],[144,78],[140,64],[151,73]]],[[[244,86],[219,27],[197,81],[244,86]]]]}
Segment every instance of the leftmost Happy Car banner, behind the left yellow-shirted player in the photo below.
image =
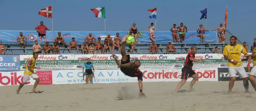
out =
{"type": "MultiPolygon", "coordinates": [[[[33,55],[20,55],[21,70],[25,70],[27,62],[32,57],[33,55]]],[[[69,70],[73,69],[74,65],[74,54],[39,54],[36,59],[36,66],[39,66],[40,70],[69,70]]]]}

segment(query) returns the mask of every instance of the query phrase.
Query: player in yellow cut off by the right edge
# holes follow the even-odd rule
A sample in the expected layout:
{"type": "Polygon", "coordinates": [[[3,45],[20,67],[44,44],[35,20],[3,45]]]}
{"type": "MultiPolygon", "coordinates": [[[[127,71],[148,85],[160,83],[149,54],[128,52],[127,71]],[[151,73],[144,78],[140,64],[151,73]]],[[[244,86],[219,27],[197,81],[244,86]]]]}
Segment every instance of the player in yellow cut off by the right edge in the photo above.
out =
{"type": "MultiPolygon", "coordinates": [[[[254,43],[256,43],[256,38],[254,38],[254,43]]],[[[255,76],[256,76],[256,47],[253,49],[253,53],[247,55],[246,57],[249,57],[249,56],[252,57],[252,59],[253,59],[253,61],[252,61],[253,68],[252,68],[248,78],[249,78],[250,82],[252,83],[254,90],[256,91],[256,78],[255,78],[255,76]]]]}

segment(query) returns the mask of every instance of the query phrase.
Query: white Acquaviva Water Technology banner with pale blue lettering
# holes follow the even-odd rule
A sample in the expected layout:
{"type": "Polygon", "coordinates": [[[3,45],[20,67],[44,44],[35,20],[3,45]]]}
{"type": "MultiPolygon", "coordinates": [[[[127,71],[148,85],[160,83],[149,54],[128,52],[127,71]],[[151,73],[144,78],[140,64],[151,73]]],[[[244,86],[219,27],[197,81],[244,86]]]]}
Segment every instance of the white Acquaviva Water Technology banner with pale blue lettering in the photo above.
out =
{"type": "MultiPolygon", "coordinates": [[[[85,83],[85,75],[82,70],[54,70],[52,71],[53,84],[76,84],[85,83]],[[84,80],[83,80],[84,77],[84,80]]],[[[94,73],[93,83],[122,83],[138,81],[137,77],[128,77],[120,70],[96,70],[94,73]]]]}

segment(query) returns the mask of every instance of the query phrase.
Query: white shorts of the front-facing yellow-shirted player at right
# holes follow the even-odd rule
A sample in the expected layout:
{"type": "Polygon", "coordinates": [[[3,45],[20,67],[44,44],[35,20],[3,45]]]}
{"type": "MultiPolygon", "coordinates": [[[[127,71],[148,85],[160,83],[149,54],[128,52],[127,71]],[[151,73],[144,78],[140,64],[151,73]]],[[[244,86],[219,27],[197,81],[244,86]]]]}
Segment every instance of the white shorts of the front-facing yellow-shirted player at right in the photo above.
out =
{"type": "Polygon", "coordinates": [[[246,71],[243,68],[243,66],[239,66],[239,67],[229,66],[228,68],[229,68],[230,77],[236,77],[236,73],[238,73],[240,78],[246,78],[247,77],[246,71]]]}

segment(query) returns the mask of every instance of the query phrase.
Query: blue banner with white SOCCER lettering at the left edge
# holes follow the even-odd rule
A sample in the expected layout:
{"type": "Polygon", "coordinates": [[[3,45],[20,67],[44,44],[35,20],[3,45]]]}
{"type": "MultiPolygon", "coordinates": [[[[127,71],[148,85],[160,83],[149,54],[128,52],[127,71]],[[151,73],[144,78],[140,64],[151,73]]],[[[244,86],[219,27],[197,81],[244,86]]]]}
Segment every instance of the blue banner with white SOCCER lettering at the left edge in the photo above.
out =
{"type": "Polygon", "coordinates": [[[0,71],[20,71],[20,55],[0,55],[0,71]]]}

